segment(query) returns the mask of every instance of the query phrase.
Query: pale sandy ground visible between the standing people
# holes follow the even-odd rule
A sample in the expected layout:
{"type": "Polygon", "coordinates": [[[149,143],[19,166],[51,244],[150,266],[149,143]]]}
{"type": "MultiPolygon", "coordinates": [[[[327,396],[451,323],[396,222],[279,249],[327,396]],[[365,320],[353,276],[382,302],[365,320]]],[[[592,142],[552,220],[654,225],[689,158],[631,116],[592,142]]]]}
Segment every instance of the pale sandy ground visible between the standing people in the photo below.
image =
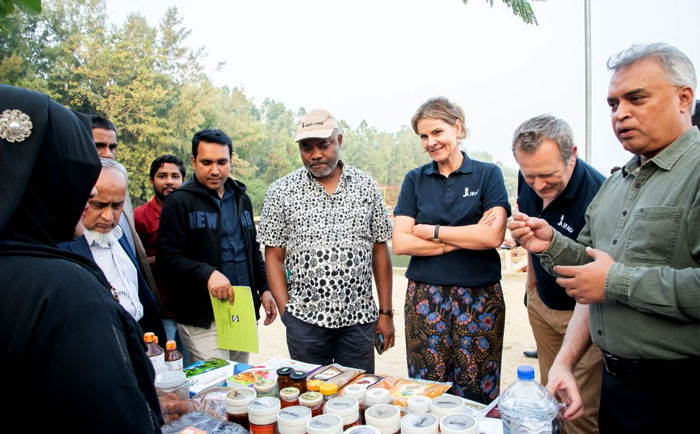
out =
{"type": "MultiPolygon", "coordinates": [[[[523,356],[524,350],[535,349],[527,310],[523,305],[525,291],[525,273],[504,274],[501,280],[506,299],[506,331],[503,344],[503,362],[501,367],[501,390],[516,379],[518,365],[527,364],[535,367],[539,378],[537,360],[523,356]]],[[[404,271],[394,270],[393,304],[395,309],[394,326],[396,327],[396,346],[381,356],[375,353],[375,371],[393,377],[404,377],[406,370],[406,344],[404,340],[403,306],[406,294],[404,271]]],[[[251,363],[262,363],[277,356],[289,357],[284,325],[278,319],[269,326],[260,326],[260,353],[251,354],[251,363]]]]}

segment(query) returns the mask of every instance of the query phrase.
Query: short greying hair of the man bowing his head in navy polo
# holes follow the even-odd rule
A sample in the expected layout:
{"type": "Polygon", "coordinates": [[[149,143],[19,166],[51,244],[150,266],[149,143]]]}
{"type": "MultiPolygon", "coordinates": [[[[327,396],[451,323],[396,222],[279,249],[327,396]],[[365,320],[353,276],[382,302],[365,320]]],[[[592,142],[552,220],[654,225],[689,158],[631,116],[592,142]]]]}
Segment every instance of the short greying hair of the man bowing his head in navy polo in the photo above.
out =
{"type": "Polygon", "coordinates": [[[574,155],[574,132],[565,120],[558,117],[544,114],[535,116],[523,122],[513,133],[513,157],[516,150],[532,153],[542,144],[542,141],[549,139],[559,146],[561,158],[568,162],[574,155]]]}

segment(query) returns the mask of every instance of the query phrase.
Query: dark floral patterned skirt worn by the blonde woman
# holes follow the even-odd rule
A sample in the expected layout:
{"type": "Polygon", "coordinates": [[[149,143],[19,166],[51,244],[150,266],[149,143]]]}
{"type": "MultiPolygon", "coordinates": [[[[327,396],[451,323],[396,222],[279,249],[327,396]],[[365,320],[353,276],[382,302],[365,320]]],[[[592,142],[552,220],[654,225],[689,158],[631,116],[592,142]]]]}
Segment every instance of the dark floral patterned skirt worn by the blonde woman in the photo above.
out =
{"type": "Polygon", "coordinates": [[[506,305],[499,282],[473,288],[408,281],[408,375],[450,381],[451,393],[489,403],[500,394],[506,305]]]}

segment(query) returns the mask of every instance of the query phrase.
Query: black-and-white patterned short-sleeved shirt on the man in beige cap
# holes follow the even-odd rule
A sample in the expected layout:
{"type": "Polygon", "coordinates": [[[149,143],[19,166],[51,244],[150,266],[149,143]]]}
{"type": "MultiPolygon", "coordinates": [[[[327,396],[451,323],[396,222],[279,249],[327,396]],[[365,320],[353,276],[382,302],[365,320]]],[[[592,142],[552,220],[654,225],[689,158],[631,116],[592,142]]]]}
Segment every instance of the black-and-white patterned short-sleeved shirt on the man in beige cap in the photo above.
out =
{"type": "Polygon", "coordinates": [[[286,248],[289,313],[327,328],[377,320],[372,248],[391,238],[377,183],[354,167],[342,170],[333,194],[304,167],[275,181],[258,228],[258,242],[286,248]]]}

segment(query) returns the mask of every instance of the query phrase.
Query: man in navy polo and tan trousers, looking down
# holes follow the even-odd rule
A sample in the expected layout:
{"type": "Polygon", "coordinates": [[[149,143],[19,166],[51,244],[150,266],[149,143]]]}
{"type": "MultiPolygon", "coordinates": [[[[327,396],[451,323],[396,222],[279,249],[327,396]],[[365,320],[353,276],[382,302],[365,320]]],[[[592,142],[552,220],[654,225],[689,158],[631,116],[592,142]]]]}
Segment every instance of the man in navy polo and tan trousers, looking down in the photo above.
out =
{"type": "MultiPolygon", "coordinates": [[[[545,219],[566,237],[576,239],[585,224],[588,204],[604,181],[594,168],[576,158],[571,127],[562,119],[540,115],[513,134],[513,155],[520,166],[518,207],[545,219]]],[[[537,343],[542,384],[564,340],[576,300],[530,255],[527,270],[527,312],[537,343]]],[[[588,309],[581,305],[579,309],[588,309]]],[[[571,433],[598,432],[602,375],[600,349],[592,345],[576,366],[576,382],[584,399],[584,416],[566,422],[571,433]]]]}

